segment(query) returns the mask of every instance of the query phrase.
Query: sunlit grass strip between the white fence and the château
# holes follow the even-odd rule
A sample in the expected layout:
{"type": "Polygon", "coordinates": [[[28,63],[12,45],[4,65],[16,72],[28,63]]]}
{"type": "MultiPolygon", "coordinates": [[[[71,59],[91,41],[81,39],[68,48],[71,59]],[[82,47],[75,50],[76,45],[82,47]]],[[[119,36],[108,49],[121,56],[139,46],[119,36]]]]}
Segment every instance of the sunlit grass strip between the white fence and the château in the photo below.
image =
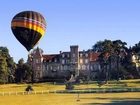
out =
{"type": "MultiPolygon", "coordinates": [[[[24,91],[28,84],[5,84],[0,85],[0,92],[19,92],[24,91]]],[[[99,88],[96,82],[89,82],[88,84],[77,84],[75,89],[94,89],[99,88]]],[[[137,80],[121,80],[108,81],[100,88],[140,88],[140,79],[137,80]]],[[[36,83],[33,84],[35,91],[44,90],[65,90],[65,85],[53,83],[36,83]]]]}

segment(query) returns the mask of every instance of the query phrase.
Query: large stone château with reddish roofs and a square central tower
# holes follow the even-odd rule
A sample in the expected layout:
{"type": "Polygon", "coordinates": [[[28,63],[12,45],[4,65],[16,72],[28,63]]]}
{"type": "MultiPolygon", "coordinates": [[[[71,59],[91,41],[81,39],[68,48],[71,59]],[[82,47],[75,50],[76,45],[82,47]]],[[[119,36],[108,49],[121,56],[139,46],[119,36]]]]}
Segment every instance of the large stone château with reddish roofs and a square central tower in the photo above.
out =
{"type": "Polygon", "coordinates": [[[71,74],[74,77],[95,78],[100,69],[97,61],[99,53],[79,51],[77,45],[70,46],[70,51],[59,54],[43,54],[39,48],[34,49],[28,57],[34,79],[66,79],[71,74]]]}

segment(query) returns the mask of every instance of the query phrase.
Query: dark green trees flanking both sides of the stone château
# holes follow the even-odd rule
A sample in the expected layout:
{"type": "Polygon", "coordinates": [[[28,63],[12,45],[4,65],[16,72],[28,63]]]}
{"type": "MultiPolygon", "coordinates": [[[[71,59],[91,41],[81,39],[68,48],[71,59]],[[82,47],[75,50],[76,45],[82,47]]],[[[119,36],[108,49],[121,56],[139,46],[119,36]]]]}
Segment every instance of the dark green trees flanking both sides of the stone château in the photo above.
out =
{"type": "MultiPolygon", "coordinates": [[[[140,78],[140,42],[131,47],[121,40],[98,41],[92,51],[100,53],[98,62],[101,69],[97,79],[137,79],[140,78]],[[135,62],[132,56],[136,55],[135,62]]],[[[33,72],[29,64],[21,58],[15,63],[7,47],[0,47],[0,83],[32,82],[33,72]]]]}

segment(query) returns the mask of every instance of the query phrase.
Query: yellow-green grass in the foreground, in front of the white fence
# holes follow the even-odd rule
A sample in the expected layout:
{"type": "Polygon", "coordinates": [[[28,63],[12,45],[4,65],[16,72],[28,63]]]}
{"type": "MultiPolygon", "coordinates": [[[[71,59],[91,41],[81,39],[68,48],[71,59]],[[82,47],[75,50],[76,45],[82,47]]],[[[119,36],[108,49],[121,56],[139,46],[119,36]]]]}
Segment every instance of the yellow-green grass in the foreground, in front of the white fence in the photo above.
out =
{"type": "Polygon", "coordinates": [[[0,105],[140,105],[140,93],[0,96],[0,105]]]}

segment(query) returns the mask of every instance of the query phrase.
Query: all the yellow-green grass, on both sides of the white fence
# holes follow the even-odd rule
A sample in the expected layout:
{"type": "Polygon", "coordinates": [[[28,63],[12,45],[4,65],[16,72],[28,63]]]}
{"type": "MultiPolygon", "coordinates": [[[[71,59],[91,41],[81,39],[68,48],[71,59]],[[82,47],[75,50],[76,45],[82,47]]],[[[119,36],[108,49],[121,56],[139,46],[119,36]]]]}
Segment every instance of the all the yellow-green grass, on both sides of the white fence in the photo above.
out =
{"type": "MultiPolygon", "coordinates": [[[[0,85],[0,92],[24,91],[28,84],[0,85]]],[[[100,88],[140,88],[140,80],[109,81],[100,88]]],[[[75,85],[75,89],[99,88],[96,82],[75,85]]],[[[33,84],[35,91],[65,90],[65,85],[53,83],[33,84]]],[[[29,94],[0,96],[0,105],[140,105],[140,92],[80,94],[29,94]]]]}

